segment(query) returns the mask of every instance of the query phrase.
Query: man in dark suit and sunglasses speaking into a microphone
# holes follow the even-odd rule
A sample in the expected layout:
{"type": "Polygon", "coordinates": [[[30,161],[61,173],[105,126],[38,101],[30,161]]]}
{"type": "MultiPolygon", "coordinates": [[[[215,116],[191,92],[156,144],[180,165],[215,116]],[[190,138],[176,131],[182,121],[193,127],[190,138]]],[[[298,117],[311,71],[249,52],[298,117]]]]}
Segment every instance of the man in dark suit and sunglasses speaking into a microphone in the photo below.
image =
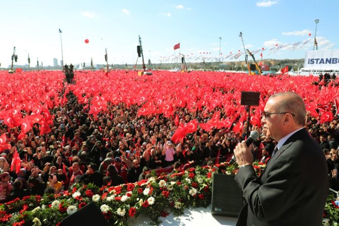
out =
{"type": "Polygon", "coordinates": [[[304,128],[303,99],[295,93],[275,94],[264,110],[264,130],[278,142],[277,150],[257,177],[245,141],[236,146],[235,180],[246,201],[237,225],[322,225],[327,165],[319,143],[304,128]]]}

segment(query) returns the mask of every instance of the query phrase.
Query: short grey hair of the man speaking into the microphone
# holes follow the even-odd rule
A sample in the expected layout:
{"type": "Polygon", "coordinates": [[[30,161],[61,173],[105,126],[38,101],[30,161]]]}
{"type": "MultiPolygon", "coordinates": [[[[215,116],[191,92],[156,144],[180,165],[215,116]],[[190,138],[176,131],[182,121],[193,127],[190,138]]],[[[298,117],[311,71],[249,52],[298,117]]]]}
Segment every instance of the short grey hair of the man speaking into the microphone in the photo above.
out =
{"type": "Polygon", "coordinates": [[[277,102],[276,110],[278,112],[289,112],[294,114],[295,122],[301,126],[305,126],[306,122],[306,107],[304,100],[301,96],[296,93],[286,92],[286,93],[277,93],[270,97],[275,98],[282,96],[282,100],[277,102]]]}

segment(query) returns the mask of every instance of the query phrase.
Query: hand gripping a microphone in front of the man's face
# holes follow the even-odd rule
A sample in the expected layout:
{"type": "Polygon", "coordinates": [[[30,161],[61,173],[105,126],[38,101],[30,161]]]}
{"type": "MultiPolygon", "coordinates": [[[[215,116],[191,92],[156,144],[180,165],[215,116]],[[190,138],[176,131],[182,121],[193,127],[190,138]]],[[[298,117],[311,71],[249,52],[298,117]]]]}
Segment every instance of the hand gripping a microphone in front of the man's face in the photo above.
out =
{"type": "Polygon", "coordinates": [[[241,165],[251,165],[253,163],[253,155],[249,151],[248,146],[255,140],[259,138],[260,134],[258,131],[253,130],[249,134],[249,137],[238,143],[234,149],[234,155],[229,161],[229,164],[237,162],[239,166],[241,165]]]}

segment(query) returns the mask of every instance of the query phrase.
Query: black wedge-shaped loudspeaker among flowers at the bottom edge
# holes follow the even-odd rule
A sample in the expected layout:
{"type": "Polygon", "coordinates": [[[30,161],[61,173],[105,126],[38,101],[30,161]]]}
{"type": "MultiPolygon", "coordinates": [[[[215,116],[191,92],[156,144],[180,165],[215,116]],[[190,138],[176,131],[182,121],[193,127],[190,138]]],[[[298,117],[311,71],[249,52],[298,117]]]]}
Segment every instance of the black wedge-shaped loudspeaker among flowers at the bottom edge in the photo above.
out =
{"type": "Polygon", "coordinates": [[[100,209],[91,202],[90,204],[82,207],[75,213],[64,218],[60,226],[69,226],[69,225],[100,225],[100,226],[110,226],[108,221],[102,215],[100,209]]]}

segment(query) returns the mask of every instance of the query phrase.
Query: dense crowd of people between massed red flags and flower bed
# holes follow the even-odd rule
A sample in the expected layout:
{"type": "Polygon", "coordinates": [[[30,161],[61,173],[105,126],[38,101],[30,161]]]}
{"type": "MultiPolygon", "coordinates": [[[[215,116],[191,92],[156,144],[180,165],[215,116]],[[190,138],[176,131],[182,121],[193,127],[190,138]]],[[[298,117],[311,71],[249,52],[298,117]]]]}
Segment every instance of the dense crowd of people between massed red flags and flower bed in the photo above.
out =
{"type": "MultiPolygon", "coordinates": [[[[49,134],[40,136],[35,124],[23,140],[18,140],[17,127],[2,125],[12,148],[3,150],[0,157],[0,202],[26,195],[57,194],[81,182],[99,187],[136,182],[148,178],[154,169],[174,167],[178,171],[225,162],[247,134],[246,123],[240,132],[198,128],[174,143],[171,137],[178,128],[174,117],[138,116],[137,105],[126,108],[123,103],[108,105],[108,111],[97,119],[87,110],[69,93],[68,102],[51,112],[55,118],[49,134]],[[21,159],[19,173],[10,170],[16,150],[21,159]]],[[[331,188],[339,190],[339,122],[335,111],[333,106],[334,119],[324,124],[308,113],[305,127],[324,150],[331,188]]],[[[213,116],[213,112],[204,115],[186,108],[177,109],[176,114],[182,123],[192,119],[203,123],[213,116]]],[[[266,137],[261,127],[248,129],[261,134],[249,146],[253,158],[267,164],[276,142],[266,137]]]]}

